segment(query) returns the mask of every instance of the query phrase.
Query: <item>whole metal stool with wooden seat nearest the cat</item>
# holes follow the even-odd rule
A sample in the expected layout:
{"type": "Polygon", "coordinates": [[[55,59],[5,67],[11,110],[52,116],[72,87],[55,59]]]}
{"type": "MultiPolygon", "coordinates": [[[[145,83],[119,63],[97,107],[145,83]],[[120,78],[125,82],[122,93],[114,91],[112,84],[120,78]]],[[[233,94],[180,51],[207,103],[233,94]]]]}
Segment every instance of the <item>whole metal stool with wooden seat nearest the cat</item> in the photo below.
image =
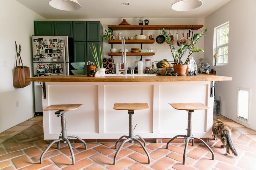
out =
{"type": "Polygon", "coordinates": [[[214,160],[214,153],[212,149],[206,144],[202,139],[196,138],[192,135],[192,112],[194,110],[206,110],[209,109],[208,106],[204,105],[203,103],[169,103],[169,105],[172,105],[174,109],[177,110],[186,110],[188,112],[188,117],[187,117],[187,135],[177,135],[174,136],[166,145],[166,149],[168,149],[168,145],[176,138],[178,137],[183,137],[186,139],[185,143],[185,148],[184,148],[184,153],[183,153],[183,161],[182,164],[185,164],[185,158],[186,158],[186,151],[187,151],[187,146],[190,140],[192,140],[192,146],[194,146],[194,139],[197,139],[201,141],[212,153],[212,160],[214,160]]]}

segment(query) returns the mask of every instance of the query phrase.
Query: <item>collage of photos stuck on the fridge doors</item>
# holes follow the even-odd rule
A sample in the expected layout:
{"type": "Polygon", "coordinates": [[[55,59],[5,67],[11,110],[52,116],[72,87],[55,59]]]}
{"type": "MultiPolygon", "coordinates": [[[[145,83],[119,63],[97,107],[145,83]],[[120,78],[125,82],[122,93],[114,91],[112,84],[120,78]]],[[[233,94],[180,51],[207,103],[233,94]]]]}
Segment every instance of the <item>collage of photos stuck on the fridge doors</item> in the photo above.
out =
{"type": "Polygon", "coordinates": [[[42,59],[52,58],[54,62],[61,60],[63,57],[65,39],[33,39],[33,45],[36,46],[36,54],[33,54],[33,61],[39,61],[35,66],[34,76],[52,76],[63,75],[64,63],[40,63],[42,59]]]}

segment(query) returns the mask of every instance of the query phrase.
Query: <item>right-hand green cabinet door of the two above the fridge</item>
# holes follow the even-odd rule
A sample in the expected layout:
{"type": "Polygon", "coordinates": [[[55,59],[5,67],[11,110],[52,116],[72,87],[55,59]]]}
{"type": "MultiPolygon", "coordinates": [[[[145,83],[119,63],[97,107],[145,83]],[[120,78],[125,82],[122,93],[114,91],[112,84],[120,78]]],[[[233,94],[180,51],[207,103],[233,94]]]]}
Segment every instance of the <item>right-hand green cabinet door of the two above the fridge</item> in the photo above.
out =
{"type": "Polygon", "coordinates": [[[54,35],[73,37],[72,21],[54,21],[54,35]]]}

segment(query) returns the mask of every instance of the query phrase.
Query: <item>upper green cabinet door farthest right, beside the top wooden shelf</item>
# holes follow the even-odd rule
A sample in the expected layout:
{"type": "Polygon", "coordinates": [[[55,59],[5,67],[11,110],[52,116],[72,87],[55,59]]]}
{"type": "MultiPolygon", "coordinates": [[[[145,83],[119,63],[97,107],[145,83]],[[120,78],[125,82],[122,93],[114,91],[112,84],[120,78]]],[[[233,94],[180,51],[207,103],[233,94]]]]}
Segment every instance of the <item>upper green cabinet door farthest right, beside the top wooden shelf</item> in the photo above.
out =
{"type": "Polygon", "coordinates": [[[86,22],[86,37],[89,42],[102,42],[103,27],[99,21],[86,22]]]}

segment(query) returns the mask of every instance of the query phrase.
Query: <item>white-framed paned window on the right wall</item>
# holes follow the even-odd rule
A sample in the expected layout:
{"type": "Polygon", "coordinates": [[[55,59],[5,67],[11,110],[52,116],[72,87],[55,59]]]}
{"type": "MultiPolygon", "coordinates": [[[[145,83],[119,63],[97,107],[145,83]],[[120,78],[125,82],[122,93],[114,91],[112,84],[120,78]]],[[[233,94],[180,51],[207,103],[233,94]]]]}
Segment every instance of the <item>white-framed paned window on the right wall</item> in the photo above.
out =
{"type": "Polygon", "coordinates": [[[220,25],[215,30],[216,30],[215,54],[218,54],[218,58],[216,59],[216,65],[226,65],[227,58],[228,58],[229,23],[220,25]]]}

